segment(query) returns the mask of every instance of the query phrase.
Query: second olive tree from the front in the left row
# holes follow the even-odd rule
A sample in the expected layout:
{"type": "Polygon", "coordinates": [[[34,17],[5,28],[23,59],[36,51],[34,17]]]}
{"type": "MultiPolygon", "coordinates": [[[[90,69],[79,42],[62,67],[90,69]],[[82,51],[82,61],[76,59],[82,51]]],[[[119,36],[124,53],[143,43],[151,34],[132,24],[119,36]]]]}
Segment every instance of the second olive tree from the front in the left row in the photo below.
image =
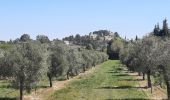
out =
{"type": "Polygon", "coordinates": [[[48,67],[47,76],[49,78],[50,87],[52,87],[52,78],[63,75],[68,68],[66,56],[68,47],[63,43],[55,42],[50,49],[51,54],[48,58],[50,66],[48,67]]]}

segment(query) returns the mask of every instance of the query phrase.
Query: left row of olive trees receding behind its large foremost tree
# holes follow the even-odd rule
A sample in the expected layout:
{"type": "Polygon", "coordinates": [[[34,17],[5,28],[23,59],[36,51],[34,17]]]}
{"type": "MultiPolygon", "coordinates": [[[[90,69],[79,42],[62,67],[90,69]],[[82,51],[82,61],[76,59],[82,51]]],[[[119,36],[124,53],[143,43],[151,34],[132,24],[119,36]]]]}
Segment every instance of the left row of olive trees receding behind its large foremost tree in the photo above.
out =
{"type": "Polygon", "coordinates": [[[50,87],[54,77],[64,76],[69,79],[108,59],[106,53],[68,46],[58,41],[51,44],[49,50],[47,76],[50,87]]]}

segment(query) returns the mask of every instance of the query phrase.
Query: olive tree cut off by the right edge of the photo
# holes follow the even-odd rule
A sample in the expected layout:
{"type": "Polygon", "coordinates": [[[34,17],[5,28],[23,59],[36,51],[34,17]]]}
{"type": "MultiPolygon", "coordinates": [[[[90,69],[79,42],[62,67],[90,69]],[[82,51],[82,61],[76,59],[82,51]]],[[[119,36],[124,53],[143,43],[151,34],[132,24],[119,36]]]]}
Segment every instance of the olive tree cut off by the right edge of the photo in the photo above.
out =
{"type": "Polygon", "coordinates": [[[167,86],[168,100],[170,100],[170,40],[159,42],[159,44],[155,44],[157,49],[153,54],[154,64],[163,75],[167,86]]]}

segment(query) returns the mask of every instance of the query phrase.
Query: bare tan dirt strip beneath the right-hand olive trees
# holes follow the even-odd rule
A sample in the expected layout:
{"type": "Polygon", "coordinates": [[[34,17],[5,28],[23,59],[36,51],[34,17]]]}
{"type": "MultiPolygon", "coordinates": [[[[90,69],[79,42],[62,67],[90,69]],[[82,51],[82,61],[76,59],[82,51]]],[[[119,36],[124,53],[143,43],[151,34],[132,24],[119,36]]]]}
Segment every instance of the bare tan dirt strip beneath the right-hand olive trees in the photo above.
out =
{"type": "MultiPolygon", "coordinates": [[[[138,76],[138,73],[129,73],[129,75],[134,76],[135,79],[141,79],[142,76],[138,76]]],[[[147,80],[138,81],[139,87],[146,87],[141,88],[142,91],[150,97],[151,100],[166,100],[167,99],[167,93],[166,90],[162,89],[160,86],[152,86],[152,93],[151,88],[147,88],[147,80]]]]}

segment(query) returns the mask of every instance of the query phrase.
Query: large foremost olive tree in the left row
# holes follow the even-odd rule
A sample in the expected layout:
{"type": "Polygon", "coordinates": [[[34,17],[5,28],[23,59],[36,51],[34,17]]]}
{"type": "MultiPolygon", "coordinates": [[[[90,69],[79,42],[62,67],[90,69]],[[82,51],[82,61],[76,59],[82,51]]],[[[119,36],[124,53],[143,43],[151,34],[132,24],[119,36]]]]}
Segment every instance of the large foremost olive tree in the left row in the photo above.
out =
{"type": "Polygon", "coordinates": [[[20,100],[23,99],[24,87],[30,91],[38,81],[41,60],[40,48],[35,43],[18,44],[5,56],[4,66],[10,69],[13,82],[19,87],[20,100]]]}

